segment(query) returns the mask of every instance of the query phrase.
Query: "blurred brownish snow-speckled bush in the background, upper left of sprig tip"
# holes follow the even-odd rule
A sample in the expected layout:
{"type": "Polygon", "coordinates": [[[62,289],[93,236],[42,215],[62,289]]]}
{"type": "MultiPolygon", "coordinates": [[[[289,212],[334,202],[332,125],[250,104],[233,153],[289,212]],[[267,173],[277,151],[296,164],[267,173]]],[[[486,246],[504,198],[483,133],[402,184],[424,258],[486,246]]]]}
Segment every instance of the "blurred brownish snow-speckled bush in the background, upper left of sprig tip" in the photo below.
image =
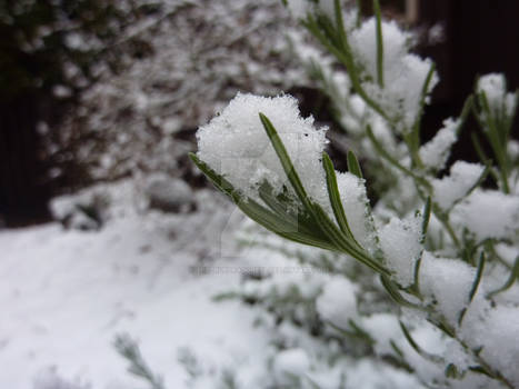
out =
{"type": "Polygon", "coordinates": [[[49,144],[87,167],[93,180],[150,171],[186,176],[192,131],[238,90],[273,93],[305,84],[286,50],[283,30],[295,23],[277,0],[137,6],[141,17],[114,44],[123,70],[99,67],[100,80],[49,144]],[[139,46],[124,50],[130,40],[139,46]]]}

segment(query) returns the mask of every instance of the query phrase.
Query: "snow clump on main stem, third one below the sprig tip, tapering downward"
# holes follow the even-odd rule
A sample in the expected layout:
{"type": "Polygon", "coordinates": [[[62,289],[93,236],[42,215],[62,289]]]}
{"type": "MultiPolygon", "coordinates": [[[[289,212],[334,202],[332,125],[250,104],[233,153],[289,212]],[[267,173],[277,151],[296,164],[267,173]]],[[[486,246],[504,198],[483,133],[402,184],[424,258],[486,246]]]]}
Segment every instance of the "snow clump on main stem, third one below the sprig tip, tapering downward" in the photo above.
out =
{"type": "Polygon", "coordinates": [[[456,328],[460,312],[469,303],[476,269],[461,260],[437,258],[425,251],[419,277],[422,295],[456,328]]]}

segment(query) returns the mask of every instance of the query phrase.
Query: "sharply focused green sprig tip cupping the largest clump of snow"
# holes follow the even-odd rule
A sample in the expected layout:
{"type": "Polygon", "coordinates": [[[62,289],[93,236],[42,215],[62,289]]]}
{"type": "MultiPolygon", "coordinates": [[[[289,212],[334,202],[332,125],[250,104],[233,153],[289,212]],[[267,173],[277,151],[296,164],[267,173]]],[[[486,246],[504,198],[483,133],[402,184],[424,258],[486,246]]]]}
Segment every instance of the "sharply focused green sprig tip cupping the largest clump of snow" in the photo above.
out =
{"type": "Polygon", "coordinates": [[[238,94],[197,137],[192,160],[252,220],[283,238],[348,253],[389,275],[372,246],[359,243],[372,238],[362,179],[350,172],[338,179],[323,152],[325,131],[313,127],[312,118],[300,117],[292,97],[238,94]],[[353,207],[347,209],[357,236],[341,194],[351,196],[353,207]]]}

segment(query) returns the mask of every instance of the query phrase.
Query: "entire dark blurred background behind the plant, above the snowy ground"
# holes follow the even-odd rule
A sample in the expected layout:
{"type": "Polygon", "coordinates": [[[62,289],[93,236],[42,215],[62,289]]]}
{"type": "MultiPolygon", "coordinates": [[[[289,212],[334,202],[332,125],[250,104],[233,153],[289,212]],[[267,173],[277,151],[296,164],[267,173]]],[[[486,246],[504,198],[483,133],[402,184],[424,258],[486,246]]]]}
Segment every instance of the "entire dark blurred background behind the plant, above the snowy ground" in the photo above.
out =
{"type": "MultiPolygon", "coordinates": [[[[292,93],[330,123],[289,52],[286,34],[301,32],[280,3],[0,0],[0,225],[46,221],[50,198],[98,181],[164,171],[201,184],[186,158],[193,132],[239,90],[292,93]]],[[[477,74],[519,86],[517,2],[381,4],[438,64],[426,137],[459,112],[477,74]]],[[[476,159],[467,150],[457,152],[476,159]]]]}

